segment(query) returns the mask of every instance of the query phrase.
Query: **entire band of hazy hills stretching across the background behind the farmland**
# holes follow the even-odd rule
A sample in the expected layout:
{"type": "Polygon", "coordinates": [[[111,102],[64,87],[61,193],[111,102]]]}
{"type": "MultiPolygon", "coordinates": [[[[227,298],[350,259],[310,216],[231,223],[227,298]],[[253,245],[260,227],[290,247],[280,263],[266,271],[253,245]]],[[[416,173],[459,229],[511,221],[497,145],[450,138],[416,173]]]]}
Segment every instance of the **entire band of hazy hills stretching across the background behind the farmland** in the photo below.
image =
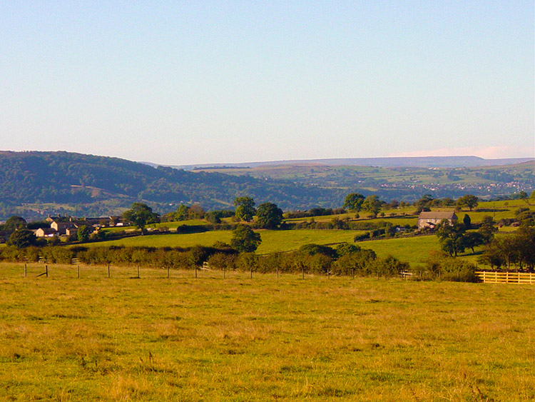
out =
{"type": "MultiPolygon", "coordinates": [[[[438,161],[449,163],[433,163],[438,161]]],[[[134,201],[165,213],[180,203],[231,208],[236,196],[248,195],[257,203],[295,210],[340,207],[352,191],[385,201],[414,201],[424,194],[489,199],[534,189],[533,161],[472,168],[258,163],[186,171],[64,151],[0,151],[0,220],[14,214],[31,219],[58,213],[104,216],[121,213],[134,201]]]]}

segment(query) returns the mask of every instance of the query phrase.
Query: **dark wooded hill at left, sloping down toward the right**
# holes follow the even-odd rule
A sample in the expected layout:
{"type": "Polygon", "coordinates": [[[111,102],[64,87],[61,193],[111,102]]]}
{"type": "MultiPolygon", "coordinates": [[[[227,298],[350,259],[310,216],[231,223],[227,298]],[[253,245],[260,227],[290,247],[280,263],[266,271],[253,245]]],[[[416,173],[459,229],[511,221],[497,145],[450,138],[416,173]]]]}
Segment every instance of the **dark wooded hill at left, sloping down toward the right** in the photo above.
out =
{"type": "Polygon", "coordinates": [[[18,213],[89,216],[118,213],[133,201],[158,212],[180,203],[228,208],[236,196],[250,195],[282,208],[340,205],[344,192],[272,179],[192,173],[124,159],[68,152],[0,152],[0,217],[18,213]]]}

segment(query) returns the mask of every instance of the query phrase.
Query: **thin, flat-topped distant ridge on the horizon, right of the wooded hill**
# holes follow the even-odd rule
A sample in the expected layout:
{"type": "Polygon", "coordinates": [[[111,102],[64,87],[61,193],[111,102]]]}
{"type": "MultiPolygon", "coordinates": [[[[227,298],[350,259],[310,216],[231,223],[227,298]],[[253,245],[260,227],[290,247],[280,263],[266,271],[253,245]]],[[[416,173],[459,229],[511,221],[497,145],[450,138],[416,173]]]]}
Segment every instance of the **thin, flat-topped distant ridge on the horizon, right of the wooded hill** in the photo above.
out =
{"type": "Polygon", "coordinates": [[[380,166],[380,167],[417,167],[417,168],[462,168],[478,166],[501,166],[535,161],[535,158],[483,159],[479,156],[393,156],[384,158],[332,158],[332,159],[290,159],[285,161],[243,162],[239,164],[195,164],[195,165],[158,165],[141,162],[151,166],[169,166],[175,169],[193,170],[206,166],[257,167],[272,165],[322,164],[327,166],[380,166]]]}

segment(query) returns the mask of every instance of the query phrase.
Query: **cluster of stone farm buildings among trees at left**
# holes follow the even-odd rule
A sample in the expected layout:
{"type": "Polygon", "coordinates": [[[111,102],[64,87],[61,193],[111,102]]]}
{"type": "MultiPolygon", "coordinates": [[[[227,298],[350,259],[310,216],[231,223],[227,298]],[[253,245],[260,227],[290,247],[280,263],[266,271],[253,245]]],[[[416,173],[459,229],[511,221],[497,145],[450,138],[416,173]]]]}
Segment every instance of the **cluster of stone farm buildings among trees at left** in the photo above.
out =
{"type": "Polygon", "coordinates": [[[123,226],[121,216],[106,216],[102,218],[73,218],[65,216],[49,216],[45,219],[50,222],[49,228],[39,228],[35,231],[37,237],[71,236],[78,232],[78,228],[86,226],[90,233],[100,228],[123,226]]]}

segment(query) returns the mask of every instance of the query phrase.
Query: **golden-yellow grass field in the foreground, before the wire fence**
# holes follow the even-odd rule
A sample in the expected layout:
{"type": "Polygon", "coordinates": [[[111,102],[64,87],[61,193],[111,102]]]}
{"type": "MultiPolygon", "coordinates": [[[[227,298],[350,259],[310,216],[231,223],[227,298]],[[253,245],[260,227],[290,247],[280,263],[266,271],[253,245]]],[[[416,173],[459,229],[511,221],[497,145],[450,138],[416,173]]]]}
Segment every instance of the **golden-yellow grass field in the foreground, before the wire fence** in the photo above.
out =
{"type": "Polygon", "coordinates": [[[1,400],[535,398],[529,286],[59,269],[0,266],[1,400]]]}

